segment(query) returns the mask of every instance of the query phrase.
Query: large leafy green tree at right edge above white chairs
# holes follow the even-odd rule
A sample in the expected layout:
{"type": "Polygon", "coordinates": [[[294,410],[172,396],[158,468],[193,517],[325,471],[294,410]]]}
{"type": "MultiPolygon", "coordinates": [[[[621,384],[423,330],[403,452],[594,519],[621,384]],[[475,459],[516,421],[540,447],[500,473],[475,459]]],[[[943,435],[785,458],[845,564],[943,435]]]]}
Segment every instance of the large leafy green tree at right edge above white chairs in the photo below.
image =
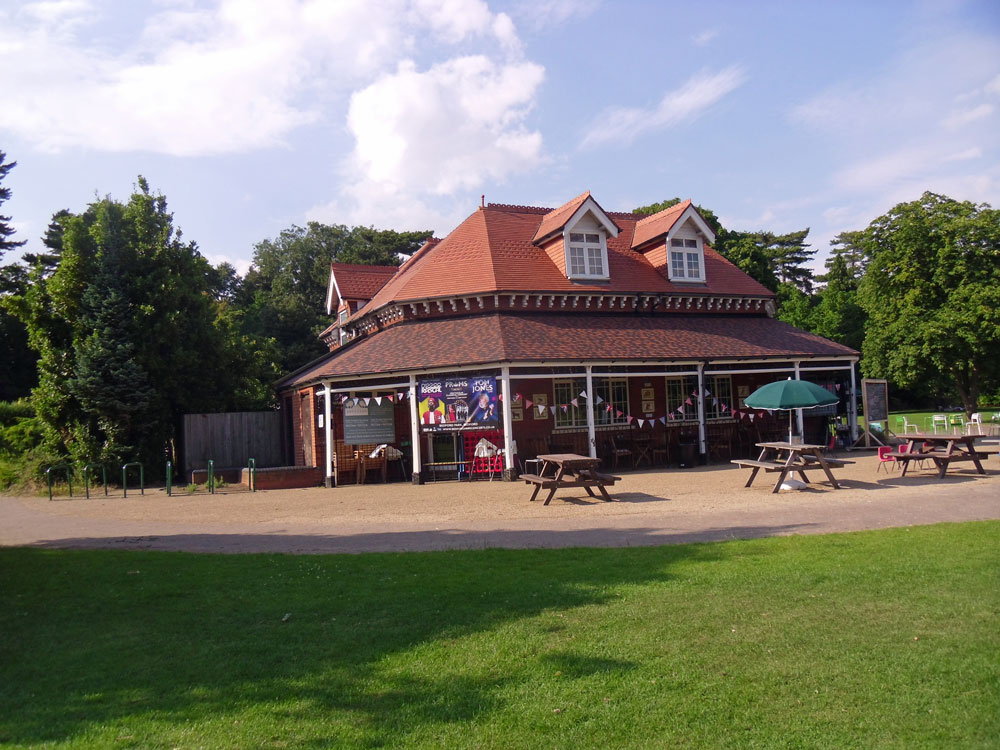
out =
{"type": "Polygon", "coordinates": [[[1000,379],[1000,211],[927,192],[862,246],[863,370],[904,388],[948,378],[971,414],[1000,379]]]}

